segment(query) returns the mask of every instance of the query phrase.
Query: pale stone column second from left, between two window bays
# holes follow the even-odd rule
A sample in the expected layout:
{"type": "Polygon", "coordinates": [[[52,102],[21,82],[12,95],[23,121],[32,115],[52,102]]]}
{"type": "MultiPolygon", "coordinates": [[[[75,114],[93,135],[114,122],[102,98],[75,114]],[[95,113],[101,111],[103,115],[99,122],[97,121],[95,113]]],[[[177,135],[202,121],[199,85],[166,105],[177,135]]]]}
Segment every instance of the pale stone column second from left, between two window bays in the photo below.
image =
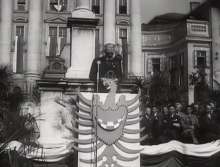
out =
{"type": "Polygon", "coordinates": [[[29,1],[28,54],[27,54],[27,93],[32,92],[40,74],[41,37],[42,37],[42,0],[29,1]]]}

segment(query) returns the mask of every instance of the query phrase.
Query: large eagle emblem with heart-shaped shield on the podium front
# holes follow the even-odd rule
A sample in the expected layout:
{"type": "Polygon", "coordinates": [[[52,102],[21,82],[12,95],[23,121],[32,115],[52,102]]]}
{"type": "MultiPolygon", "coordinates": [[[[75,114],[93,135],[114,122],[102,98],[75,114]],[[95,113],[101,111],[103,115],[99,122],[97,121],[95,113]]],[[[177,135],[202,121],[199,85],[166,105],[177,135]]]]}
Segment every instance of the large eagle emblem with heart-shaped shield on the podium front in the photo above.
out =
{"type": "Polygon", "coordinates": [[[147,137],[139,136],[143,130],[139,129],[140,93],[126,100],[126,95],[116,94],[117,84],[113,79],[104,79],[103,84],[109,89],[107,95],[97,93],[87,98],[86,94],[78,93],[78,110],[74,120],[77,126],[72,128],[78,137],[74,139],[71,147],[82,153],[79,159],[84,163],[83,166],[95,163],[98,167],[123,167],[119,161],[135,161],[142,150],[136,145],[128,145],[139,144],[147,137]],[[131,128],[132,126],[135,128],[131,128]],[[93,156],[87,158],[86,155],[89,154],[93,156]]]}

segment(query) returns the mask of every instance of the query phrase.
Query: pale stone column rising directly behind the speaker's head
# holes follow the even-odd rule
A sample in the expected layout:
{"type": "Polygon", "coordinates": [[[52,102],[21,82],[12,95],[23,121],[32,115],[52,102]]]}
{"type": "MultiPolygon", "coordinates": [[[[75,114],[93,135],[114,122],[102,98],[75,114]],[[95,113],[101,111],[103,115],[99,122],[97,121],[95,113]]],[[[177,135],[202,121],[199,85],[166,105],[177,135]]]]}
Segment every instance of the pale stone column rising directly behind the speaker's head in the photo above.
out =
{"type": "Polygon", "coordinates": [[[104,44],[115,44],[115,0],[104,1],[104,44]]]}

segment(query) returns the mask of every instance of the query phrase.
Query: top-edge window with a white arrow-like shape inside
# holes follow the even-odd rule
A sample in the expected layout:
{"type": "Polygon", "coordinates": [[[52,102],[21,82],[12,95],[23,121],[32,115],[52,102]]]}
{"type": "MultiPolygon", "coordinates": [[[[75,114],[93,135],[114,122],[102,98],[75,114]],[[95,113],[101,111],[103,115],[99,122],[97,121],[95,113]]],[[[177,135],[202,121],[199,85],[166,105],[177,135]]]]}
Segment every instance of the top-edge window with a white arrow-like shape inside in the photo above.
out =
{"type": "Polygon", "coordinates": [[[51,11],[62,12],[67,10],[67,0],[49,0],[51,11]]]}

